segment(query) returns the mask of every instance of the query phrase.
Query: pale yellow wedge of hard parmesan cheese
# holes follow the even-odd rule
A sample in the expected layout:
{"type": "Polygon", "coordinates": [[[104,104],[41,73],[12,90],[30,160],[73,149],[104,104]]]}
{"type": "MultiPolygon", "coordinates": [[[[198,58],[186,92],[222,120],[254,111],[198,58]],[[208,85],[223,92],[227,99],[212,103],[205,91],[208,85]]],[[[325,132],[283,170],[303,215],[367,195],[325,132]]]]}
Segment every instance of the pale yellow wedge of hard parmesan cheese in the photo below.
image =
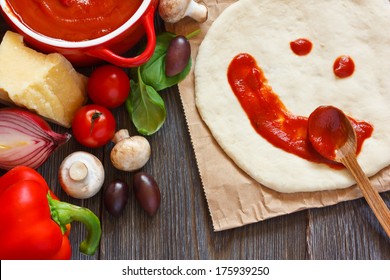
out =
{"type": "Polygon", "coordinates": [[[87,77],[61,54],[39,53],[7,31],[0,45],[0,102],[15,104],[70,127],[86,101],[87,77]]]}

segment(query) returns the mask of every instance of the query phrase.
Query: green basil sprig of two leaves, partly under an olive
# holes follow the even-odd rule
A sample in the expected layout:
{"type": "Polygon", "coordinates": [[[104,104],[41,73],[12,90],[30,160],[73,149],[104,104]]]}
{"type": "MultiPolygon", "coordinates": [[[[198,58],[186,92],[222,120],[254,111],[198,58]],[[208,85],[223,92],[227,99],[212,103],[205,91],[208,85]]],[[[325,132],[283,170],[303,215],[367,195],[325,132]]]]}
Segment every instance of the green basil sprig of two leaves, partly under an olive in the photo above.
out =
{"type": "MultiPolygon", "coordinates": [[[[187,38],[198,33],[199,31],[195,31],[187,38]]],[[[142,135],[154,134],[165,122],[165,104],[158,92],[178,84],[191,70],[192,59],[176,76],[165,75],[165,57],[169,43],[175,37],[176,34],[171,32],[158,35],[152,57],[148,62],[131,71],[131,94],[126,100],[126,108],[138,133],[142,135]]]]}

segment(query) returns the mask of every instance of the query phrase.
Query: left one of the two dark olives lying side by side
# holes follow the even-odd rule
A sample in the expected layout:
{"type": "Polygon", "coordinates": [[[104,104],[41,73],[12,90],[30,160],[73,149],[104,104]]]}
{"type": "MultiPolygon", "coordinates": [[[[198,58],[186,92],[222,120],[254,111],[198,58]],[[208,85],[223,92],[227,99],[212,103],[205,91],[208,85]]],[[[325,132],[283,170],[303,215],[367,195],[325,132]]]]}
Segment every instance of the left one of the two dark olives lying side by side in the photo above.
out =
{"type": "Polygon", "coordinates": [[[115,180],[104,191],[104,205],[108,213],[117,217],[125,208],[129,198],[129,186],[122,180],[115,180]]]}

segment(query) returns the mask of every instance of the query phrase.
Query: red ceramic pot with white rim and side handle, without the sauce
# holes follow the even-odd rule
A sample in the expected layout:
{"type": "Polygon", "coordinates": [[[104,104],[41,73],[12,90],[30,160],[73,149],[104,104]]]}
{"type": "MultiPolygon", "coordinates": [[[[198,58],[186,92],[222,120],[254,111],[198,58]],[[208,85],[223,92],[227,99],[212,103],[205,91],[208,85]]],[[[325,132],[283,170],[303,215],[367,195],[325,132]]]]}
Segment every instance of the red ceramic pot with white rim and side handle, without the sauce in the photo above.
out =
{"type": "Polygon", "coordinates": [[[133,16],[111,33],[79,42],[43,36],[20,22],[6,0],[0,0],[0,5],[5,20],[24,36],[26,43],[44,53],[61,53],[76,66],[107,61],[120,67],[136,67],[148,61],[156,46],[154,14],[158,0],[143,0],[133,16]],[[145,50],[135,57],[123,57],[122,54],[131,49],[145,34],[147,37],[145,50]]]}

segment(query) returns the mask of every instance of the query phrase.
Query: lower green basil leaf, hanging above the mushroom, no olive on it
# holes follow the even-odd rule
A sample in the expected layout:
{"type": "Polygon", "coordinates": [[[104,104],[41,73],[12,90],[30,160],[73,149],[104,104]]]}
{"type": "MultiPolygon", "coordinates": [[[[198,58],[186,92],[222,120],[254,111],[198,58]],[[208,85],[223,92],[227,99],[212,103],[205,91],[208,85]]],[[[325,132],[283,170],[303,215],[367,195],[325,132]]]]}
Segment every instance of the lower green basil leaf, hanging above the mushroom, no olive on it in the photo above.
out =
{"type": "Polygon", "coordinates": [[[166,119],[164,100],[157,91],[144,83],[138,70],[138,83],[130,81],[131,94],[126,108],[137,131],[151,135],[158,131],[166,119]]]}

